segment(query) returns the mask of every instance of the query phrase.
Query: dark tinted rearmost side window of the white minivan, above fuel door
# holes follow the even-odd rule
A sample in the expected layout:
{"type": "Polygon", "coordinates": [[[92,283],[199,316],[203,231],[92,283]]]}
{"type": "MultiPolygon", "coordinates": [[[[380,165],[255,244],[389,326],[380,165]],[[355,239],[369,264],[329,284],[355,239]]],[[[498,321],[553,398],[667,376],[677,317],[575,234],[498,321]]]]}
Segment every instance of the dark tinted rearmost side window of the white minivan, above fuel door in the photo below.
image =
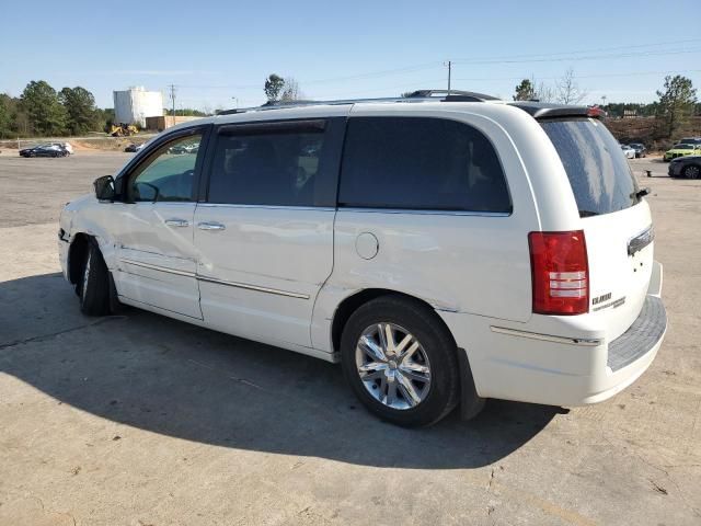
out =
{"type": "Polygon", "coordinates": [[[512,211],[504,170],[486,137],[429,117],[352,117],[338,205],[512,211]]]}

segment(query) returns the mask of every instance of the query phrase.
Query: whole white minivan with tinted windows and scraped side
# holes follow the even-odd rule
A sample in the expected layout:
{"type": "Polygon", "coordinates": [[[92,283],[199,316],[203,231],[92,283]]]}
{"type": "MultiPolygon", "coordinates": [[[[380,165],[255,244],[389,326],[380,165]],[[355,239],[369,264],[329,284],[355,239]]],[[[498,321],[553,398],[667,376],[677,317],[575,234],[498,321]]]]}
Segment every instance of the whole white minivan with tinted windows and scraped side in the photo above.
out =
{"type": "Polygon", "coordinates": [[[647,191],[596,110],[424,95],[162,133],[61,213],[83,312],[340,362],[401,425],[624,389],[667,319],[647,191]]]}

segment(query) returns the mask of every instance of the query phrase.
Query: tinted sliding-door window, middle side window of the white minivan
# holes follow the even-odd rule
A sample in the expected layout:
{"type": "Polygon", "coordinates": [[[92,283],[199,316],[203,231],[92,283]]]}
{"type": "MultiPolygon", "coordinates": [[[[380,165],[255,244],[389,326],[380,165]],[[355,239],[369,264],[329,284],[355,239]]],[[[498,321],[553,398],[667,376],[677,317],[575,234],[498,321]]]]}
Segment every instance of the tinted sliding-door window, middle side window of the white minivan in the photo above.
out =
{"type": "Polygon", "coordinates": [[[223,126],[209,175],[209,203],[321,206],[324,121],[223,126]]]}

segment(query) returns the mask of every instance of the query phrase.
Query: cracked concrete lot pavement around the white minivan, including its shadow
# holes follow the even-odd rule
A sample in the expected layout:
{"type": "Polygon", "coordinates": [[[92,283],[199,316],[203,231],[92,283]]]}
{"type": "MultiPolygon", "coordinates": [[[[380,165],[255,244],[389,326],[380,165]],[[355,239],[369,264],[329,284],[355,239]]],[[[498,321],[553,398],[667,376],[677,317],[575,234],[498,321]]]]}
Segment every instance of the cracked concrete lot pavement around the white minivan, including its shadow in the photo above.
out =
{"type": "Polygon", "coordinates": [[[0,156],[0,525],[701,524],[701,181],[641,179],[669,330],[637,382],[410,431],[333,365],[134,309],[83,317],[59,206],[126,159],[0,156]]]}

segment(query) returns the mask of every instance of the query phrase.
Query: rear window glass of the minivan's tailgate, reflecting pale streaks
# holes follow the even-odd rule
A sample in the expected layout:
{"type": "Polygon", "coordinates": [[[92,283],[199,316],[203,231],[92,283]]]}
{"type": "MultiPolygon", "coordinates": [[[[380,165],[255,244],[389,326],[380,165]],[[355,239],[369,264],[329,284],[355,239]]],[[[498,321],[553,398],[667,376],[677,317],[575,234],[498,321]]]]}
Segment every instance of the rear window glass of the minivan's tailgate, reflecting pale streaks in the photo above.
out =
{"type": "Polygon", "coordinates": [[[567,172],[581,217],[640,203],[637,182],[606,126],[588,118],[544,121],[541,126],[567,172]]]}

